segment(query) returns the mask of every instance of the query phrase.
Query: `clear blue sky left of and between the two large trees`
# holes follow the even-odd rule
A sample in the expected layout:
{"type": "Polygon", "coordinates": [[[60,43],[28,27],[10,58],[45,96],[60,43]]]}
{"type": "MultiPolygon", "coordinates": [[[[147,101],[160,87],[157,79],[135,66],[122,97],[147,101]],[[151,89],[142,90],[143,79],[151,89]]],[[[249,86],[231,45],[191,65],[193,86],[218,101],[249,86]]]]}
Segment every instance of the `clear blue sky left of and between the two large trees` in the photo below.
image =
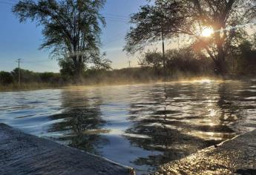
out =
{"type": "MultiPolygon", "coordinates": [[[[18,0],[0,0],[0,71],[11,71],[18,66],[17,59],[22,59],[21,67],[36,72],[59,72],[58,62],[49,59],[49,51],[39,50],[44,39],[42,27],[34,22],[20,23],[11,12],[18,0]]],[[[146,0],[107,0],[102,15],[107,26],[102,29],[102,52],[112,61],[112,67],[119,69],[137,66],[137,56],[128,56],[122,51],[125,46],[125,34],[131,24],[129,15],[136,13],[146,0]]]]}

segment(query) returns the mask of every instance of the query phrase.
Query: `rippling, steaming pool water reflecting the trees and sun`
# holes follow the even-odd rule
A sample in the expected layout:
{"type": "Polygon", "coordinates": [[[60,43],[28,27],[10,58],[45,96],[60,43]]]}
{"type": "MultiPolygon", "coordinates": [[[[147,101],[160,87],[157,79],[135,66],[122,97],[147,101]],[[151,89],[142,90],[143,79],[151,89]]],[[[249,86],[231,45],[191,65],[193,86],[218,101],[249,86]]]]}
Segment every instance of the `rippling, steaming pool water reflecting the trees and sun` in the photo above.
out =
{"type": "Polygon", "coordinates": [[[256,81],[0,93],[0,122],[137,174],[256,128],[256,81]]]}

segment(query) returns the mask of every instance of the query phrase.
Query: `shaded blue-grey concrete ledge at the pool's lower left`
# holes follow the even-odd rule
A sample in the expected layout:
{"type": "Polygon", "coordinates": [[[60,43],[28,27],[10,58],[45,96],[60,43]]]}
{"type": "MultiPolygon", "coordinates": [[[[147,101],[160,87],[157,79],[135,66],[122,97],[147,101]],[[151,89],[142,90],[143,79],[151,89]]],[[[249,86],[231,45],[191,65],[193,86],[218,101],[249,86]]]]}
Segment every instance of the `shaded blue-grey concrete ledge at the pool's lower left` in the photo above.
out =
{"type": "Polygon", "coordinates": [[[134,174],[132,168],[0,124],[0,174],[134,174]]]}

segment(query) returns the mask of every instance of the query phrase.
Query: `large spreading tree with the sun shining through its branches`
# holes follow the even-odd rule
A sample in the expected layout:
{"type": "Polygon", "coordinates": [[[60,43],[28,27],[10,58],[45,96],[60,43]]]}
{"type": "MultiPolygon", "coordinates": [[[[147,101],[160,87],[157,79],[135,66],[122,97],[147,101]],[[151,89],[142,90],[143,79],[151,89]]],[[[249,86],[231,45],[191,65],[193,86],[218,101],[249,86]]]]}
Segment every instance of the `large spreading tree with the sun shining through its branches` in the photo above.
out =
{"type": "Polygon", "coordinates": [[[246,33],[240,26],[252,22],[254,10],[253,0],[155,0],[131,16],[134,27],[126,36],[125,50],[134,53],[145,43],[160,40],[159,29],[167,38],[193,36],[191,45],[214,61],[218,73],[225,74],[227,55],[246,33]],[[214,30],[211,37],[200,36],[206,28],[214,30]]]}

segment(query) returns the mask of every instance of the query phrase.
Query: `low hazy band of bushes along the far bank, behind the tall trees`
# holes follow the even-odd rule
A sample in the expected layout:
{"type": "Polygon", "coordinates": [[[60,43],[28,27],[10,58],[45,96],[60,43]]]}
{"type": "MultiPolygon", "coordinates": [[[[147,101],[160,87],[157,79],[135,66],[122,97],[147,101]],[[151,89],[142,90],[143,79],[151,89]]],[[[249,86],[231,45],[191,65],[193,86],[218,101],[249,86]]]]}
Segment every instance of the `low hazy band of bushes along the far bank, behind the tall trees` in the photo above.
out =
{"type": "MultiPolygon", "coordinates": [[[[67,85],[76,83],[73,80],[71,63],[60,64],[60,73],[35,73],[30,70],[20,70],[22,84],[48,83],[51,85],[67,85]]],[[[119,84],[131,82],[156,82],[163,80],[182,79],[196,76],[214,76],[214,62],[196,53],[191,47],[167,50],[165,58],[162,53],[146,52],[140,59],[140,67],[111,70],[111,67],[91,67],[82,74],[83,85],[119,84]],[[165,62],[166,67],[163,67],[165,62]]],[[[244,41],[233,50],[232,58],[227,63],[229,74],[236,76],[255,76],[256,48],[254,42],[244,41]]],[[[11,72],[0,72],[0,84],[17,84],[19,69],[11,72]]]]}

